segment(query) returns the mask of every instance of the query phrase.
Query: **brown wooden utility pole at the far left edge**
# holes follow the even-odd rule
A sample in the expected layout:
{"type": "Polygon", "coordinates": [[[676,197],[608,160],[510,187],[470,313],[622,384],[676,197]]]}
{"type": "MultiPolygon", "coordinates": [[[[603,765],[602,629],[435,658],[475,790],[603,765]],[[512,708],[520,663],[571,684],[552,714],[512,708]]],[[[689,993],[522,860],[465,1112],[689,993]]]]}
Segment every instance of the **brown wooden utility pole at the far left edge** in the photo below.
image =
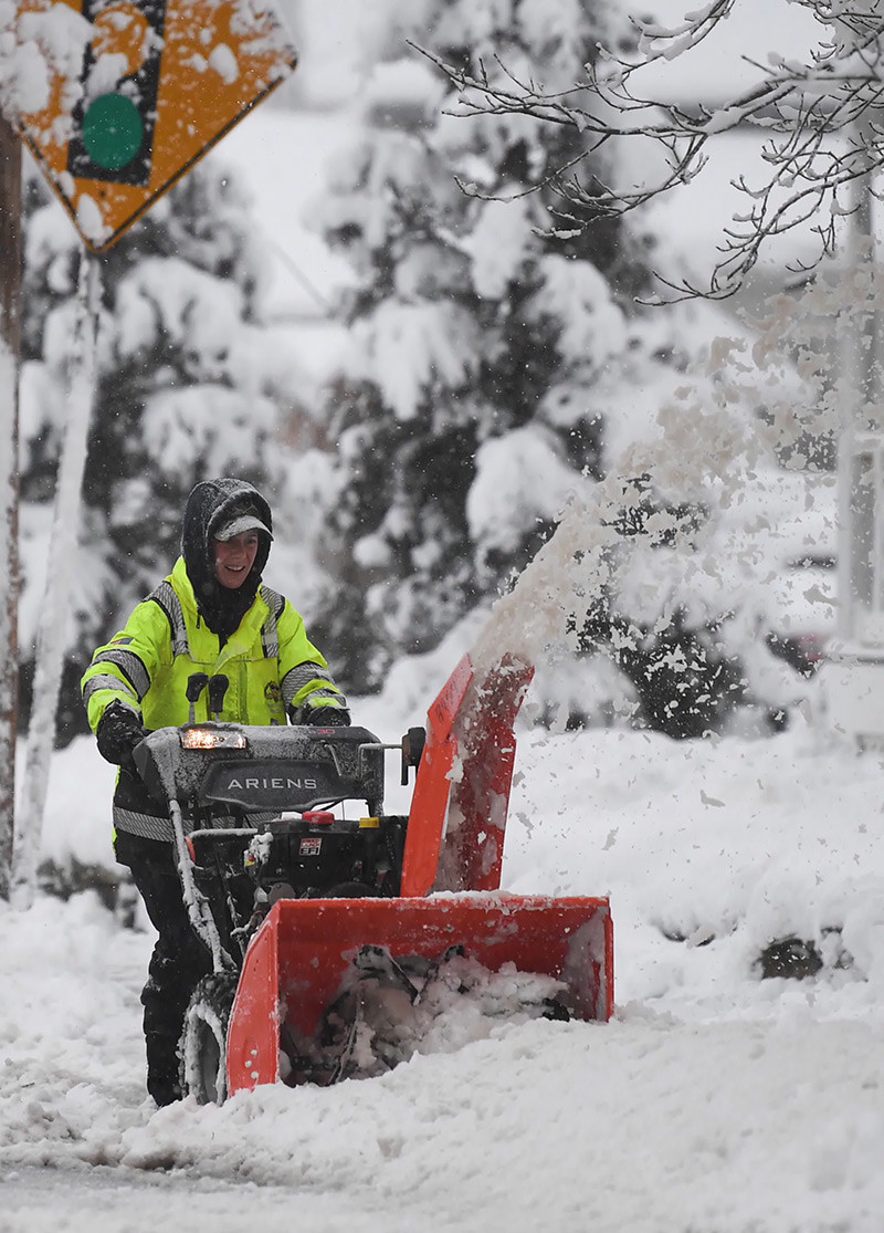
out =
{"type": "Polygon", "coordinates": [[[21,142],[0,116],[0,898],[9,899],[18,719],[21,142]]]}

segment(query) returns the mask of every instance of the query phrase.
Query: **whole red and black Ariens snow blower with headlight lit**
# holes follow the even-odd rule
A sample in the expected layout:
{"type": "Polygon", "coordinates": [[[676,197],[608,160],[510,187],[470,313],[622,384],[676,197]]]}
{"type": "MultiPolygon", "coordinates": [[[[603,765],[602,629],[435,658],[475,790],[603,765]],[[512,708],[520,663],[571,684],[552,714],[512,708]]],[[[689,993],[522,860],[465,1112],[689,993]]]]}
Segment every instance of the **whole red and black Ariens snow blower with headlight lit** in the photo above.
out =
{"type": "Polygon", "coordinates": [[[221,723],[223,677],[195,673],[190,721],[136,750],[176,836],[191,925],[212,956],[181,1039],[201,1102],[259,1084],[329,1084],[404,1060],[464,1000],[496,1017],[608,1020],[607,899],[499,890],[533,670],[469,657],[428,726],[383,745],[364,727],[221,723]],[[207,692],[207,715],[195,708],[207,692]],[[383,813],[385,751],[407,816],[383,813]],[[350,803],[362,810],[344,816],[350,803]]]}

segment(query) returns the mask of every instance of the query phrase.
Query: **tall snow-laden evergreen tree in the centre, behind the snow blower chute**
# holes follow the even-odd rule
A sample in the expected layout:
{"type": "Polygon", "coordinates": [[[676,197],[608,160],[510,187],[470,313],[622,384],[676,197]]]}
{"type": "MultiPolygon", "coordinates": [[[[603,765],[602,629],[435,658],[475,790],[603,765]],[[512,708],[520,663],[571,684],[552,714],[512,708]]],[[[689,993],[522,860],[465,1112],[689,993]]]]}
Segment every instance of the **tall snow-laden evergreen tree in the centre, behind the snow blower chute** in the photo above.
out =
{"type": "Polygon", "coordinates": [[[586,392],[626,345],[620,301],[642,277],[640,245],[619,243],[616,226],[576,243],[538,234],[542,194],[523,194],[568,143],[538,141],[534,123],[440,118],[440,76],[404,44],[418,31],[446,57],[476,63],[494,48],[567,81],[599,26],[571,0],[409,10],[369,91],[372,127],[334,176],[325,232],[362,282],[346,309],[350,364],[329,398],[339,572],[325,637],[346,645],[356,688],[493,594],[575,477],[597,473],[600,418],[586,392]],[[469,199],[456,171],[519,200],[469,199]]]}

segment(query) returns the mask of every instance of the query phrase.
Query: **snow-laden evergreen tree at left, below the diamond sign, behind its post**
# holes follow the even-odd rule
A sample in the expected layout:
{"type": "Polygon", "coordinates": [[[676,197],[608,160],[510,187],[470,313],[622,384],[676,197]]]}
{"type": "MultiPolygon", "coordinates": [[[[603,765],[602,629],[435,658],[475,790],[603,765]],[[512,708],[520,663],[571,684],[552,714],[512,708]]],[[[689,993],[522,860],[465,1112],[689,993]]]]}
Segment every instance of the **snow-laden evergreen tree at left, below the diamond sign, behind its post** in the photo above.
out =
{"type": "MultiPolygon", "coordinates": [[[[64,428],[80,242],[28,180],[25,222],[20,642],[23,708],[42,602],[46,535],[64,428]]],[[[170,568],[187,492],[235,473],[284,473],[279,435],[297,371],[263,328],[265,258],[247,202],[206,160],[101,260],[104,314],[58,734],[84,730],[91,650],[170,568]]]]}

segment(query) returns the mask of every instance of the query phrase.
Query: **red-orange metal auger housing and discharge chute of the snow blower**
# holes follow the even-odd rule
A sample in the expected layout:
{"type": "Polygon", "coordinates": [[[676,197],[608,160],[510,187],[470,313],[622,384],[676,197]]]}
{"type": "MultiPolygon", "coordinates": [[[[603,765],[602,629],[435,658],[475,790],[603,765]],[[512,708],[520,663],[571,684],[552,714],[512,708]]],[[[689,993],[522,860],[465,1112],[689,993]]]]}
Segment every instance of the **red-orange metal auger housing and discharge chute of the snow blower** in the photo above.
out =
{"type": "Polygon", "coordinates": [[[399,896],[286,899],[271,909],[247,952],[231,1015],[231,1092],[280,1078],[281,1018],[312,1034],[350,957],[366,942],[387,947],[393,957],[434,957],[459,942],[494,972],[513,964],[563,980],[576,1018],[610,1017],[608,900],[498,889],[515,758],[513,723],[531,676],[520,665],[501,663],[476,699],[473,720],[464,724],[461,708],[473,678],[464,657],[430,707],[399,896]],[[432,888],[457,894],[430,895],[432,888]]]}

